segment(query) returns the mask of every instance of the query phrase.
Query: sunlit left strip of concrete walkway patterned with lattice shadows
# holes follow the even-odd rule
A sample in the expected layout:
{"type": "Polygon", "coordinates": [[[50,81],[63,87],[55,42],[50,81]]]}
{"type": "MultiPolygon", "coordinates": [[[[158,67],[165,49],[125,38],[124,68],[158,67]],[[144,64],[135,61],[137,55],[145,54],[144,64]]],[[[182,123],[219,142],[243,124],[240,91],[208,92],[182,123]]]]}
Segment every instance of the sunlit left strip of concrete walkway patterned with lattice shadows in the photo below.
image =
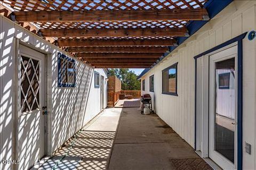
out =
{"type": "Polygon", "coordinates": [[[122,108],[105,109],[39,169],[107,169],[122,108]]]}

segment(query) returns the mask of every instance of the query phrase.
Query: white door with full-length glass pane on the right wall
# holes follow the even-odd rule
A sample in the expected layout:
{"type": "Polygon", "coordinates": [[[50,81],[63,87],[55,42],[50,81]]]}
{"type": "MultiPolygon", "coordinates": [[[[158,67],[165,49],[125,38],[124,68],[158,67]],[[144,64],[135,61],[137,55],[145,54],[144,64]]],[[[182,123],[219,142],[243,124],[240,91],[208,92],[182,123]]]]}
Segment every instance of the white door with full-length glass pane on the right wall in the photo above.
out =
{"type": "Polygon", "coordinates": [[[209,157],[223,169],[236,168],[237,46],[210,56],[209,157]]]}

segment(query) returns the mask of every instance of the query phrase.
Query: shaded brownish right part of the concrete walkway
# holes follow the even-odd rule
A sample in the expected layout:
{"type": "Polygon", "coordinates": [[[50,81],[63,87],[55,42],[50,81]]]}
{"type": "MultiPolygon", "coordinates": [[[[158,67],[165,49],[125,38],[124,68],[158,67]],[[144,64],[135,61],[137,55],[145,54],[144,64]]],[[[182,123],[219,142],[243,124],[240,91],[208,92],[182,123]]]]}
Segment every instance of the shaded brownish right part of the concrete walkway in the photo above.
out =
{"type": "Polygon", "coordinates": [[[108,169],[211,169],[156,114],[123,108],[108,169]]]}

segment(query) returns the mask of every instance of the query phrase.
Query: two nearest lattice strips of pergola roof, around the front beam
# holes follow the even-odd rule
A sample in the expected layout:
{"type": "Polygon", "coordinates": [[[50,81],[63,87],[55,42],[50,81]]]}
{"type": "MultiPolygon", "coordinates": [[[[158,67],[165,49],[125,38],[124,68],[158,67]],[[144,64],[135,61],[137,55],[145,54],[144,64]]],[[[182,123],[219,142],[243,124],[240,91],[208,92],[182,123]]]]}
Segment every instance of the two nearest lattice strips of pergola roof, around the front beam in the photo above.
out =
{"type": "MultiPolygon", "coordinates": [[[[201,8],[207,0],[121,1],[4,1],[15,11],[161,10],[201,8]]],[[[166,28],[183,27],[187,21],[36,22],[41,28],[166,28]]]]}

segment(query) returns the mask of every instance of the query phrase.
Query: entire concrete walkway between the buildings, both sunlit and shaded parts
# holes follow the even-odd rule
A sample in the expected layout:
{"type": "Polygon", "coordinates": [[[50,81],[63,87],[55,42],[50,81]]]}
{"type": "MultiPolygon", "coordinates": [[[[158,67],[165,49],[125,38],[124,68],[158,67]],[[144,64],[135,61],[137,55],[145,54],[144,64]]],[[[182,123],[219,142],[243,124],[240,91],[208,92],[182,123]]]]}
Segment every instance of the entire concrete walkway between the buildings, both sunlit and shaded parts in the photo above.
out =
{"type": "Polygon", "coordinates": [[[105,109],[72,141],[39,169],[211,169],[157,115],[139,108],[105,109]]]}

